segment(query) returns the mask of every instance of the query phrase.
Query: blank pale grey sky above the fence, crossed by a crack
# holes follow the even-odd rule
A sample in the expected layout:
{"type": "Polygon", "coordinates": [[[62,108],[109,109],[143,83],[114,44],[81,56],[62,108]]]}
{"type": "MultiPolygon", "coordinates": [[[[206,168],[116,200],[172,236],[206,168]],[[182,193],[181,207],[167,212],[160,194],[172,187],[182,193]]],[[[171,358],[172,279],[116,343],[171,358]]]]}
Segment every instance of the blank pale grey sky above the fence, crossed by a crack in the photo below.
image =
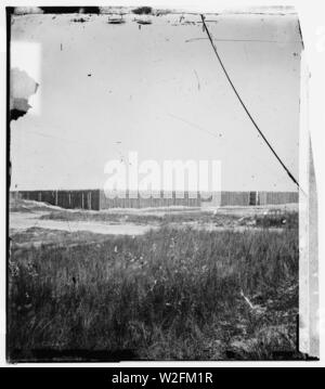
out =
{"type": "MultiPolygon", "coordinates": [[[[173,14],[139,29],[134,15],[122,25],[107,24],[107,15],[74,17],[25,15],[12,26],[13,43],[40,44],[40,103],[11,125],[12,189],[102,187],[106,161],[138,151],[140,160],[159,163],[220,159],[223,190],[296,190],[231,90],[202,24],[181,25],[173,14]]],[[[298,178],[297,17],[207,20],[239,94],[298,178]]],[[[26,56],[12,55],[26,69],[26,56]]]]}

